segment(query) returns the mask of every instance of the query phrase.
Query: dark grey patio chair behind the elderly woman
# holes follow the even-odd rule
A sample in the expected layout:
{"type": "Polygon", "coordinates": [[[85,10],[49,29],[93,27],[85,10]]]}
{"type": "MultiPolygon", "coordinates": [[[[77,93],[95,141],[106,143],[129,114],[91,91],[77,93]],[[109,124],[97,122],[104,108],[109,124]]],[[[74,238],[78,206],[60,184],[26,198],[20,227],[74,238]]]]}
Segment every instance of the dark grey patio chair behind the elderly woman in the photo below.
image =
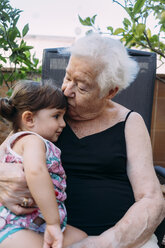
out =
{"type": "MultiPolygon", "coordinates": [[[[136,80],[125,90],[114,97],[114,101],[129,109],[140,113],[144,118],[147,129],[150,133],[154,84],[156,78],[156,54],[128,49],[140,66],[136,80]]],[[[68,64],[70,54],[67,48],[44,49],[42,61],[42,80],[49,81],[61,87],[65,75],[65,68],[68,64]]],[[[165,183],[165,168],[155,166],[158,178],[165,183]]],[[[165,235],[165,220],[156,230],[159,246],[162,248],[162,240],[165,235]]]]}

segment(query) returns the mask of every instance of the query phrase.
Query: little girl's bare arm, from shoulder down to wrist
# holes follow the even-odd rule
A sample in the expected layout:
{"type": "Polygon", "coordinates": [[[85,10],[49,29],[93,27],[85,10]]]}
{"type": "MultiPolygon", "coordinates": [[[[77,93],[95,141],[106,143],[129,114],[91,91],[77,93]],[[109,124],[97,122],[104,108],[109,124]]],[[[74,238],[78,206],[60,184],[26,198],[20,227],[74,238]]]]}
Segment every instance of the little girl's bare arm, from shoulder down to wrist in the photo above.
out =
{"type": "Polygon", "coordinates": [[[46,148],[41,138],[27,135],[23,143],[23,167],[29,190],[47,224],[59,224],[58,205],[46,167],[46,148]]]}

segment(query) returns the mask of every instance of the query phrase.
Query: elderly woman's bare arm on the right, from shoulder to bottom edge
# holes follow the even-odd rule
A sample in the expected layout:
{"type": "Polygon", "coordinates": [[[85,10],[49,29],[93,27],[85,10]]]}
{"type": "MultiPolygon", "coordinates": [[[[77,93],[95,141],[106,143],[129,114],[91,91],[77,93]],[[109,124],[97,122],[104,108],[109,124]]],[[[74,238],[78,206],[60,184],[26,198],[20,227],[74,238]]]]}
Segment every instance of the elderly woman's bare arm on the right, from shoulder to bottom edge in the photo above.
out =
{"type": "Polygon", "coordinates": [[[139,114],[132,113],[129,116],[125,136],[128,156],[127,172],[135,203],[113,228],[100,236],[88,237],[71,247],[139,248],[148,241],[165,217],[165,204],[153,168],[149,134],[139,114]]]}

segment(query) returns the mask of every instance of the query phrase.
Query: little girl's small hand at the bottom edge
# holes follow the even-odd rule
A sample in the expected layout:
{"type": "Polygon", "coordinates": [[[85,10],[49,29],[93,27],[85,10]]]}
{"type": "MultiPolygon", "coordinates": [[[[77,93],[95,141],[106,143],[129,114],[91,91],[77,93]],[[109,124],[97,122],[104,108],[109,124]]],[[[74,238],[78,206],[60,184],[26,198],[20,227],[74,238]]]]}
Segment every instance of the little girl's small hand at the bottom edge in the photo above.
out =
{"type": "Polygon", "coordinates": [[[43,248],[62,248],[63,234],[59,224],[47,225],[43,248]]]}

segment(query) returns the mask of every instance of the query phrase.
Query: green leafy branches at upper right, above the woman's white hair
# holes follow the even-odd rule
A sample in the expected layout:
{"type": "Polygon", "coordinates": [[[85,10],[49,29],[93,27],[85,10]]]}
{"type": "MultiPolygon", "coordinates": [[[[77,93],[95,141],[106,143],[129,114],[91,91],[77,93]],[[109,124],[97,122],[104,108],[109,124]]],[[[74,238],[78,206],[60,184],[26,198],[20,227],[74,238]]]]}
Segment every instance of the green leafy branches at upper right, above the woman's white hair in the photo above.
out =
{"type": "MultiPolygon", "coordinates": [[[[122,7],[128,16],[124,18],[123,26],[114,29],[107,27],[107,34],[119,36],[120,40],[128,48],[136,47],[155,52],[161,63],[165,58],[165,0],[113,0],[113,3],[122,7]],[[150,17],[155,20],[155,33],[151,28],[150,17]]],[[[79,21],[82,25],[92,29],[87,33],[97,31],[104,33],[95,24],[96,15],[79,21]]]]}

